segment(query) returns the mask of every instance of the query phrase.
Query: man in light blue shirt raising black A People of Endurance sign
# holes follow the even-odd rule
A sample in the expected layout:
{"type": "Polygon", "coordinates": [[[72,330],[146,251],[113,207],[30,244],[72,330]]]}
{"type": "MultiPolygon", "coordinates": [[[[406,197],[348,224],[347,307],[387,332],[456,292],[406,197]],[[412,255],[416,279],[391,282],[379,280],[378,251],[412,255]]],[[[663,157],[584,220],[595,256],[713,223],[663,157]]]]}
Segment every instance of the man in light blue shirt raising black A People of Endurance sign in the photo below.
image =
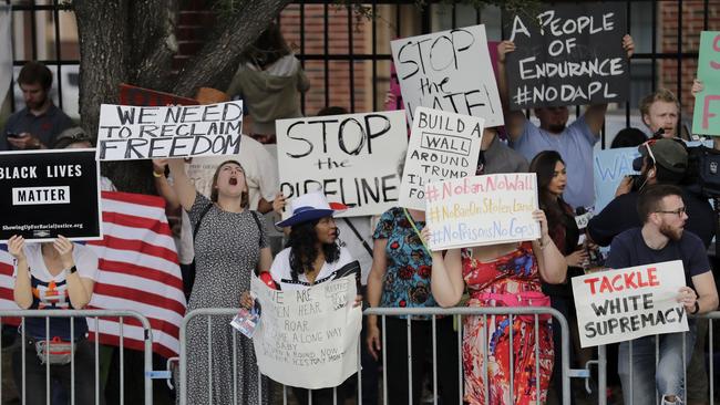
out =
{"type": "MultiPolygon", "coordinates": [[[[623,49],[627,56],[632,55],[635,43],[630,35],[623,38],[623,49]]],[[[589,208],[595,205],[595,186],[593,178],[593,146],[600,136],[605,122],[607,104],[590,105],[570,125],[567,125],[567,106],[535,108],[539,127],[525,117],[522,111],[510,111],[505,55],[515,51],[512,41],[502,41],[497,45],[497,72],[500,97],[505,113],[505,129],[510,146],[531,162],[543,150],[556,150],[567,165],[567,188],[563,198],[574,209],[589,208]]],[[[513,68],[517,69],[517,66],[513,68]]]]}

